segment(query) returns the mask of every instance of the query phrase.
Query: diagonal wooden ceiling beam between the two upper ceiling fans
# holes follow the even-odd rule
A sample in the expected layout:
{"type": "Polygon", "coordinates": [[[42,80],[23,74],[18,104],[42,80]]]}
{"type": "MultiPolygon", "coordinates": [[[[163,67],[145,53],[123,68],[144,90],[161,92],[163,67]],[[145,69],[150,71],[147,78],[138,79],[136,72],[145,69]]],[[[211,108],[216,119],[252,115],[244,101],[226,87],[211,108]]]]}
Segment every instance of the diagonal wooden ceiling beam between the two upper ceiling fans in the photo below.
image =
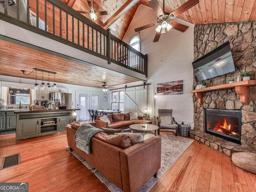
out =
{"type": "Polygon", "coordinates": [[[106,22],[104,29],[109,28],[120,16],[127,12],[132,6],[138,3],[140,0],[128,0],[126,1],[106,22]]]}

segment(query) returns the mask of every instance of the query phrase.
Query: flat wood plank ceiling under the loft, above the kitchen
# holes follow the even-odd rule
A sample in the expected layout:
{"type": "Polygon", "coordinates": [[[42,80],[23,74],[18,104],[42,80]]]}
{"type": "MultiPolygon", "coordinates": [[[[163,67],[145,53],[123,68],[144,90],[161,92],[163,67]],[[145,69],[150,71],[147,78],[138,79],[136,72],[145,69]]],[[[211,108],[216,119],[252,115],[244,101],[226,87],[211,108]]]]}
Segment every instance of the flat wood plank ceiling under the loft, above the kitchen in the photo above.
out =
{"type": "MultiPolygon", "coordinates": [[[[118,72],[106,70],[98,66],[86,65],[55,56],[32,48],[27,48],[14,43],[0,40],[0,75],[15,76],[20,78],[36,79],[34,68],[57,72],[56,82],[72,85],[81,85],[102,88],[103,82],[108,86],[116,86],[138,80],[120,74],[118,72]],[[23,74],[21,70],[27,72],[23,74]]],[[[42,73],[38,72],[38,84],[42,81],[42,73]]],[[[48,82],[48,75],[44,73],[44,81],[48,82]]],[[[50,82],[54,78],[50,75],[50,82]]]]}

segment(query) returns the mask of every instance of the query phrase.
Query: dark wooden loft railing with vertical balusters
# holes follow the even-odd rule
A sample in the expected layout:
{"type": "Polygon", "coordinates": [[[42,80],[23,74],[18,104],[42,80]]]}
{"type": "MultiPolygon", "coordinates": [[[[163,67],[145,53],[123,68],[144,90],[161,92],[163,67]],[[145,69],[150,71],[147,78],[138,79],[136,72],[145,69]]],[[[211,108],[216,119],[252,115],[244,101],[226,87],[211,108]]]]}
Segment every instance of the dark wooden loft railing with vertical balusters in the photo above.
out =
{"type": "MultiPolygon", "coordinates": [[[[16,0],[0,9],[0,20],[62,42],[147,76],[147,55],[60,0],[16,0]]],[[[8,4],[8,0],[4,0],[8,4]]]]}

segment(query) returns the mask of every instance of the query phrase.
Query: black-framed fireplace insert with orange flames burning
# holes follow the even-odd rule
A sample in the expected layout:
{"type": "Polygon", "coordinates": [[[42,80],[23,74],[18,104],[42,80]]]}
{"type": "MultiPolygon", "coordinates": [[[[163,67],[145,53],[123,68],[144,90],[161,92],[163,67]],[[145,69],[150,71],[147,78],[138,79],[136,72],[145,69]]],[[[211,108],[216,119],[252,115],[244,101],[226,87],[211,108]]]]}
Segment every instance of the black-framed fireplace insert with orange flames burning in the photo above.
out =
{"type": "Polygon", "coordinates": [[[205,109],[205,132],[241,144],[241,110],[205,109]]]}

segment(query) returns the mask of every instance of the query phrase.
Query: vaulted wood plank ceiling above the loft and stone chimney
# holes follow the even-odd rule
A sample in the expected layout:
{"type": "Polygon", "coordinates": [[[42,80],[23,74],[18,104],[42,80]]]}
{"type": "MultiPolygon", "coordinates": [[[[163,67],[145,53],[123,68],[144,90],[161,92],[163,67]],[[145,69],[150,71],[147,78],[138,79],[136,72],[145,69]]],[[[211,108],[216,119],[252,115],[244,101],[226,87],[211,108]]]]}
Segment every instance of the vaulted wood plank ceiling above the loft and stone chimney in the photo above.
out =
{"type": "MultiPolygon", "coordinates": [[[[74,10],[89,12],[87,0],[62,0],[74,10]]],[[[171,13],[188,0],[165,0],[164,11],[171,13]]],[[[199,4],[180,14],[178,18],[192,24],[239,22],[256,20],[256,0],[199,0],[199,4]]],[[[163,0],[158,0],[163,7],[163,0]]],[[[111,33],[123,39],[126,30],[140,4],[150,6],[148,0],[94,0],[96,12],[106,10],[108,15],[99,16],[102,22],[113,22],[111,33]],[[114,18],[117,11],[127,2],[135,3],[127,12],[114,18]],[[113,20],[114,18],[114,20],[113,20]]],[[[83,14],[88,17],[88,14],[83,14]]],[[[146,19],[146,15],[145,15],[146,19]]],[[[100,24],[99,24],[100,25],[100,24]]],[[[106,28],[106,27],[105,27],[106,28]]]]}

